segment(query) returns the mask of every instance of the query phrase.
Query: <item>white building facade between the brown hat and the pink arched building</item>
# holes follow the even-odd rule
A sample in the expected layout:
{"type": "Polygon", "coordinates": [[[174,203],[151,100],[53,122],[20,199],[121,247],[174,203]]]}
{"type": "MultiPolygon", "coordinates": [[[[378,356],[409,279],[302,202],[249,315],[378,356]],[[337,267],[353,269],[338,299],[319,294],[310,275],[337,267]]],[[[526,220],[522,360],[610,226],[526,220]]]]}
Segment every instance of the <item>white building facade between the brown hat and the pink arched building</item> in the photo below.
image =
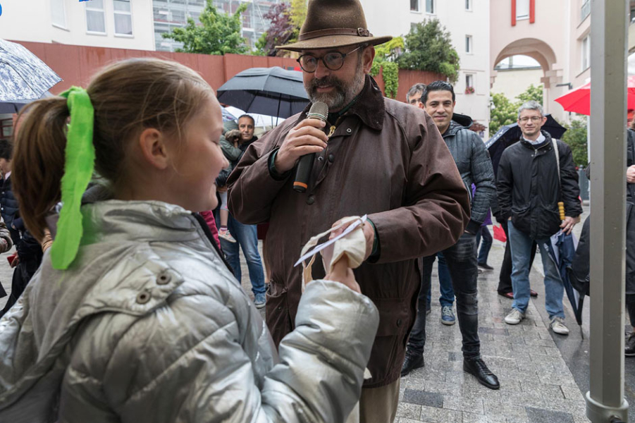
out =
{"type": "Polygon", "coordinates": [[[406,35],[412,25],[438,19],[460,57],[455,111],[488,126],[490,0],[360,0],[373,35],[406,35]],[[472,92],[473,91],[473,92],[472,92]]]}

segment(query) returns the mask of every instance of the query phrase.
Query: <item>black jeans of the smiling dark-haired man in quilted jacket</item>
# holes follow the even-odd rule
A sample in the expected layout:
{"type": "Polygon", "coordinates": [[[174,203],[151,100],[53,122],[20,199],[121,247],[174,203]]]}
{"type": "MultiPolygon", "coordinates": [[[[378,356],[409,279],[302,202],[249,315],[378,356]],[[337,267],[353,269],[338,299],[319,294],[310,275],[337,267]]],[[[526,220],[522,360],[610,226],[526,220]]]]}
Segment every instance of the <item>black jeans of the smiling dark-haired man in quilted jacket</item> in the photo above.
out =
{"type": "MultiPolygon", "coordinates": [[[[463,357],[477,358],[481,356],[481,341],[479,341],[479,301],[476,290],[476,278],[479,269],[476,264],[476,235],[464,233],[459,241],[443,250],[443,257],[448,262],[452,288],[457,297],[457,318],[463,337],[463,357]]],[[[421,291],[419,292],[419,307],[417,319],[410,332],[407,352],[417,355],[424,353],[426,345],[426,293],[432,279],[432,264],[435,256],[424,257],[424,269],[421,274],[421,291]]]]}

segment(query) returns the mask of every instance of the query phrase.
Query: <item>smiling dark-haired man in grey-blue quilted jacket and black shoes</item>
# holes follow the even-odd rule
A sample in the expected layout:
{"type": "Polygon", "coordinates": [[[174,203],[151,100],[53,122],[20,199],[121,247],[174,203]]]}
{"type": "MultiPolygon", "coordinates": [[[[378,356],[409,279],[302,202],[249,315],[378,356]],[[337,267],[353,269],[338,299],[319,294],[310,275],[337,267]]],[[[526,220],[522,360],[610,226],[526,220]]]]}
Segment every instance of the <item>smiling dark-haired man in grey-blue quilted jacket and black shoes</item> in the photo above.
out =
{"type": "MultiPolygon", "coordinates": [[[[475,376],[476,380],[484,386],[498,389],[500,388],[498,378],[490,372],[481,358],[476,287],[476,279],[479,276],[476,262],[476,233],[480,231],[491,200],[496,193],[492,162],[479,135],[468,129],[471,118],[461,116],[465,120],[463,125],[452,120],[456,105],[452,85],[443,81],[432,82],[426,87],[421,103],[436,124],[445,144],[448,145],[465,187],[470,193],[471,185],[474,184],[476,187],[474,196],[471,197],[471,219],[467,228],[457,243],[443,250],[443,257],[448,264],[452,288],[457,299],[457,317],[463,336],[463,370],[475,376]]],[[[424,365],[426,310],[421,307],[421,304],[426,303],[434,259],[435,255],[424,257],[417,321],[410,333],[402,375],[424,365]]],[[[451,310],[451,304],[444,305],[442,314],[451,310]]]]}

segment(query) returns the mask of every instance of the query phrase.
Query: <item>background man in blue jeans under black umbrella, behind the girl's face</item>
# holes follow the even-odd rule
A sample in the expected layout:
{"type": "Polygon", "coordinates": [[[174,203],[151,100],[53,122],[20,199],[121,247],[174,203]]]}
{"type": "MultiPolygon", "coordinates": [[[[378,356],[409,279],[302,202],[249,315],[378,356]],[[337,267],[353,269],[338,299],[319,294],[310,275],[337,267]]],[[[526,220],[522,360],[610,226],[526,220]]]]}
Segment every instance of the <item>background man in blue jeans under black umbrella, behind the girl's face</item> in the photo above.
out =
{"type": "MultiPolygon", "coordinates": [[[[231,161],[233,167],[238,164],[242,155],[247,151],[247,147],[258,140],[258,137],[254,137],[254,129],[255,121],[252,116],[245,114],[238,118],[240,141],[238,142],[238,147],[235,147],[235,150],[240,150],[240,152],[237,151],[237,158],[231,161]]],[[[225,148],[227,149],[228,147],[225,148]]],[[[240,247],[242,254],[245,256],[245,262],[247,262],[247,269],[249,270],[249,281],[252,283],[252,291],[254,293],[254,305],[258,308],[262,308],[266,304],[266,286],[264,285],[262,260],[260,258],[260,252],[258,251],[257,227],[256,225],[244,225],[230,214],[227,220],[227,228],[229,233],[231,233],[236,240],[235,243],[231,243],[225,238],[221,238],[221,245],[227,257],[227,262],[234,271],[234,276],[240,282],[242,278],[242,271],[240,269],[240,247]]]]}

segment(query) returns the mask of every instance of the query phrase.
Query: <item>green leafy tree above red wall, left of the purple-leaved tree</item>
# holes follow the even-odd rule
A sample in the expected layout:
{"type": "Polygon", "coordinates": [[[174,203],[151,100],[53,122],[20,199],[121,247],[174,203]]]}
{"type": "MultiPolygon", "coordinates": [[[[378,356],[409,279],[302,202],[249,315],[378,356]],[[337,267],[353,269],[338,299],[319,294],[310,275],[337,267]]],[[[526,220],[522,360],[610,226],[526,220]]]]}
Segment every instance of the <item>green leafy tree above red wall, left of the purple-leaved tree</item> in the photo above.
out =
{"type": "Polygon", "coordinates": [[[197,25],[192,18],[187,18],[187,25],[174,28],[172,32],[163,34],[164,38],[183,43],[183,49],[177,51],[198,54],[243,54],[247,52],[245,39],[240,36],[240,16],[247,10],[247,3],[238,6],[236,13],[220,13],[212,0],[206,0],[197,25]]]}

